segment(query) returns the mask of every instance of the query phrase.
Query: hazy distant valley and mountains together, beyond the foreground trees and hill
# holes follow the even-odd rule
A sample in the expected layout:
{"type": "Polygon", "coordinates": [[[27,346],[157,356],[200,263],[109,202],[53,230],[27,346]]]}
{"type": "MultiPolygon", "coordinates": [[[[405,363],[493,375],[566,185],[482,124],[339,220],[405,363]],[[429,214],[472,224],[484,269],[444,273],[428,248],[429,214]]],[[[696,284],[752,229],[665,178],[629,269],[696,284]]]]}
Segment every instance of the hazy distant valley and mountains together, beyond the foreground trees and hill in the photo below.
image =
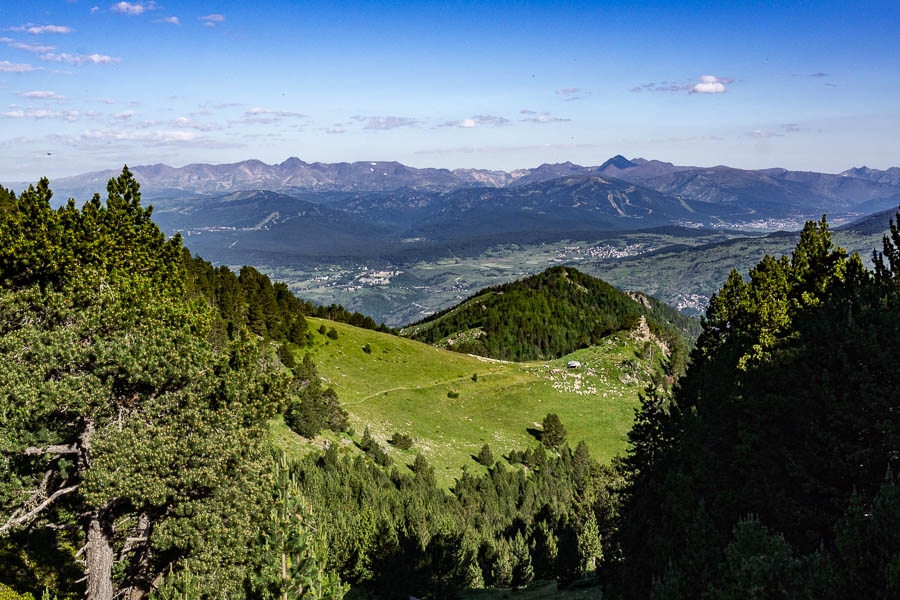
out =
{"type": "MultiPolygon", "coordinates": [[[[823,213],[849,226],[900,203],[897,167],[752,171],[617,155],[509,173],[296,158],[133,170],[155,220],[194,252],[391,326],[555,264],[699,315],[732,267],[746,273],[795,243],[772,232],[823,213]]],[[[112,173],[57,180],[55,202],[84,198],[112,173]]],[[[857,229],[838,240],[868,257],[881,230],[857,229]]]]}

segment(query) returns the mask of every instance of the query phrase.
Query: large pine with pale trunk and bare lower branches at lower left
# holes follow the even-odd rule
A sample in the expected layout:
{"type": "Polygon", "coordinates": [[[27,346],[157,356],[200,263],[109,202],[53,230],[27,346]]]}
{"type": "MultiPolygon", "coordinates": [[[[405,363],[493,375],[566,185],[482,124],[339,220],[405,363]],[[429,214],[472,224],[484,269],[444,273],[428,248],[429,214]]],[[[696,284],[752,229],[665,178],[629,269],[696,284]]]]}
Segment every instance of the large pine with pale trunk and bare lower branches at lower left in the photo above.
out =
{"type": "Polygon", "coordinates": [[[260,368],[252,344],[214,354],[208,322],[150,282],[90,272],[60,291],[0,293],[0,443],[22,457],[4,462],[0,496],[20,500],[4,503],[0,534],[79,525],[91,600],[146,591],[182,558],[236,589],[252,563],[268,482],[261,425],[287,380],[260,368]]]}

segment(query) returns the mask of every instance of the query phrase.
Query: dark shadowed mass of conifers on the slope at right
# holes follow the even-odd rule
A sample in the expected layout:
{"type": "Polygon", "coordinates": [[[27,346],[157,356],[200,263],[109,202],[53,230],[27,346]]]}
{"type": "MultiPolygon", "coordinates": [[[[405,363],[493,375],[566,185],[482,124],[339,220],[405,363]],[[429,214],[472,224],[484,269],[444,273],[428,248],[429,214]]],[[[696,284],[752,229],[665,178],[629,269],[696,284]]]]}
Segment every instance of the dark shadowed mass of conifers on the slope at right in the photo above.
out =
{"type": "Polygon", "coordinates": [[[685,377],[630,434],[629,598],[900,593],[900,230],[867,271],[807,223],[710,301],[685,377]]]}

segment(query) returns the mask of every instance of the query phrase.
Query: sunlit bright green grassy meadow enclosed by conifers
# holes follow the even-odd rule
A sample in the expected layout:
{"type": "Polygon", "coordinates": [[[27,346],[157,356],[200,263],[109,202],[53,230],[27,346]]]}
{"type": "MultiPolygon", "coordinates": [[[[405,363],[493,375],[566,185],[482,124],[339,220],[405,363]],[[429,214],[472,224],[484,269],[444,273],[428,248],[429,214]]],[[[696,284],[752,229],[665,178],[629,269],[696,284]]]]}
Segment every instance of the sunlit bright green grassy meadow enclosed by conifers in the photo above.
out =
{"type": "MultiPolygon", "coordinates": [[[[395,463],[409,464],[421,452],[446,485],[462,474],[463,466],[483,470],[472,455],[484,444],[497,457],[538,444],[540,423],[550,412],[562,419],[572,446],[585,440],[598,460],[622,452],[638,393],[650,378],[651,360],[659,367],[661,358],[657,346],[648,351],[636,335],[619,333],[557,360],[509,363],[307,320],[312,357],[350,413],[353,441],[359,442],[368,426],[395,463]],[[337,339],[318,333],[322,324],[334,327],[337,339]],[[367,345],[370,353],[363,350],[367,345]],[[568,360],[580,361],[582,368],[567,369],[568,360]],[[417,442],[410,450],[393,448],[387,440],[394,432],[417,442]]],[[[273,433],[292,454],[311,447],[279,420],[273,422],[273,433]]],[[[318,445],[325,439],[356,451],[346,435],[328,433],[317,439],[318,445]]]]}

